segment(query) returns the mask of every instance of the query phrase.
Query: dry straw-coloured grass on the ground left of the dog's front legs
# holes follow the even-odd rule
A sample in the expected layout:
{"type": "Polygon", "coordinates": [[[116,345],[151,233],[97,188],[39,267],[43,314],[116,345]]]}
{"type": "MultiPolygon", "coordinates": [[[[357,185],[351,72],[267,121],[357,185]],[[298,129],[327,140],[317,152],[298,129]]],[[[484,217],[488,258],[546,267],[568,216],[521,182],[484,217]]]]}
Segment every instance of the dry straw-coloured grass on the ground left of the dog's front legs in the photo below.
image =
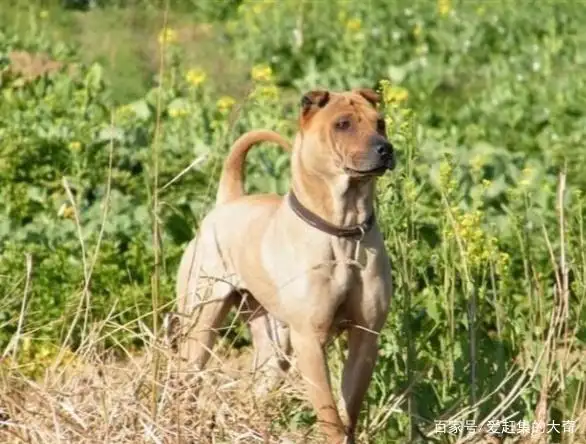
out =
{"type": "MultiPolygon", "coordinates": [[[[5,371],[0,442],[283,442],[285,436],[274,420],[282,421],[291,413],[291,400],[303,396],[295,388],[300,387],[298,374],[292,373],[278,392],[260,401],[252,395],[254,377],[247,352],[233,349],[225,359],[212,359],[204,372],[194,374],[182,371],[173,356],[159,350],[164,359],[153,417],[152,350],[124,361],[88,350],[65,367],[47,369],[36,381],[16,369],[5,371]],[[201,387],[199,395],[189,386],[201,387]]],[[[296,409],[304,407],[294,404],[296,409]]],[[[299,432],[287,432],[287,438],[315,442],[299,432]]]]}

